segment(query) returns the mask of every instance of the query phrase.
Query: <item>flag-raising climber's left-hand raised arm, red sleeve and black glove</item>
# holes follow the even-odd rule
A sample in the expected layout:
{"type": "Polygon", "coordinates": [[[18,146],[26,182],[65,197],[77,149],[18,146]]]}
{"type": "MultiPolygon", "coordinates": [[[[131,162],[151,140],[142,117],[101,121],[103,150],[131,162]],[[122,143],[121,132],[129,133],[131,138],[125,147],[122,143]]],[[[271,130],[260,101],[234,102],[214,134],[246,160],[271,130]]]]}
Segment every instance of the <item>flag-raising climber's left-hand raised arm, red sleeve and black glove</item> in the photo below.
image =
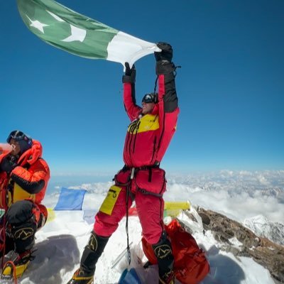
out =
{"type": "Polygon", "coordinates": [[[136,69],[133,65],[129,67],[129,63],[125,63],[125,74],[122,77],[124,83],[124,107],[129,119],[133,121],[141,113],[141,107],[136,105],[135,97],[135,80],[136,80],[136,69]]]}

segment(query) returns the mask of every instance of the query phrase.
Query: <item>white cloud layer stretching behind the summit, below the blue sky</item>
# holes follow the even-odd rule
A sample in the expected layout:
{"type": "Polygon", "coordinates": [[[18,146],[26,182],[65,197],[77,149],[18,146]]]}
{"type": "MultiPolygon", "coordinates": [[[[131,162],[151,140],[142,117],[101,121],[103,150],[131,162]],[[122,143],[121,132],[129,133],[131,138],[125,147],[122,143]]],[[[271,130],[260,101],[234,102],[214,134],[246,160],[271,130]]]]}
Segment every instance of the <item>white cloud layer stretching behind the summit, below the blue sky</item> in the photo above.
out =
{"type": "MultiPolygon", "coordinates": [[[[85,209],[99,209],[112,182],[82,183],[87,193],[85,209]]],[[[48,204],[56,203],[45,197],[48,204]]],[[[262,214],[271,222],[283,222],[284,171],[231,171],[200,175],[169,175],[166,201],[189,200],[193,205],[212,209],[244,222],[244,219],[262,214]]]]}

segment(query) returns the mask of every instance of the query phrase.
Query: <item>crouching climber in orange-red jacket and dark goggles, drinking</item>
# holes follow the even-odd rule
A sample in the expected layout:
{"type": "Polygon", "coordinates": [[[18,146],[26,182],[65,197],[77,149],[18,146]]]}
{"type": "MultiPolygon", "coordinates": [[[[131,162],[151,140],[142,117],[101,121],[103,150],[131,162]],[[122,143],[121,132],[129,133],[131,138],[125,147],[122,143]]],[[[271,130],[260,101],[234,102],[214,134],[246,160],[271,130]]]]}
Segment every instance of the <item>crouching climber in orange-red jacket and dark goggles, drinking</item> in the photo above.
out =
{"type": "Polygon", "coordinates": [[[35,232],[48,217],[41,202],[50,180],[39,141],[16,130],[7,143],[10,150],[0,151],[0,251],[6,259],[1,280],[18,278],[34,258],[35,232]]]}

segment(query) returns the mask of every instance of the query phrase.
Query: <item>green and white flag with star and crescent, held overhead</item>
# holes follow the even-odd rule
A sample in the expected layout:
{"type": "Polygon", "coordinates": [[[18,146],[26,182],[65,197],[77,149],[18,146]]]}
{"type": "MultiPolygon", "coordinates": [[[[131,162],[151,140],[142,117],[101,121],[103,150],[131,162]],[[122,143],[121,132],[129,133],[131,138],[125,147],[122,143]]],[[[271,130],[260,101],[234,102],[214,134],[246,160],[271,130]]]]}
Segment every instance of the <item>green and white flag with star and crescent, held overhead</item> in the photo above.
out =
{"type": "Polygon", "coordinates": [[[17,0],[17,3],[31,32],[69,53],[133,65],[143,56],[160,51],[155,43],[117,31],[53,0],[17,0]]]}

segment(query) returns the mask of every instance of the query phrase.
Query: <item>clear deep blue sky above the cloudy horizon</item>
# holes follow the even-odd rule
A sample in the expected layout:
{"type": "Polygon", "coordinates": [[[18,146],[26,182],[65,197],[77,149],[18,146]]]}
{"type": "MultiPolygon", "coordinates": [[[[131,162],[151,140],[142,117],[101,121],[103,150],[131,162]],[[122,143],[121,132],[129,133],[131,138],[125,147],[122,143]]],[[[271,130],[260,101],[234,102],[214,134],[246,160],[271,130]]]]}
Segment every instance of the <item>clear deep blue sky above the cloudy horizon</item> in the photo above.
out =
{"type": "MultiPolygon", "coordinates": [[[[74,1],[79,13],[174,48],[178,131],[170,172],[284,168],[284,1],[74,1]]],[[[0,141],[20,129],[43,143],[52,174],[115,173],[129,119],[119,63],[80,58],[28,31],[1,1],[0,141]]],[[[136,62],[137,100],[155,60],[136,62]]]]}

